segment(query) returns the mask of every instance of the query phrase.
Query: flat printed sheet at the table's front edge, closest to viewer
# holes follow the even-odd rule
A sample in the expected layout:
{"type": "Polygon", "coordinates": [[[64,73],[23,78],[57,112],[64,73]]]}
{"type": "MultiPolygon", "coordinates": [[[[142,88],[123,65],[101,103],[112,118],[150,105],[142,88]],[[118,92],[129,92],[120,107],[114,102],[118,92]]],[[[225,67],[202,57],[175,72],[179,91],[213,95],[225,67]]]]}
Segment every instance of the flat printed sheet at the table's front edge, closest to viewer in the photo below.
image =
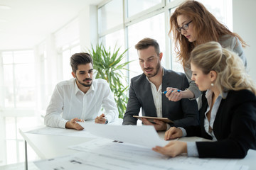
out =
{"type": "Polygon", "coordinates": [[[45,159],[34,162],[38,169],[41,170],[101,170],[101,169],[112,169],[112,170],[164,170],[161,166],[154,166],[144,164],[137,160],[137,162],[129,162],[126,159],[115,159],[113,157],[106,157],[101,153],[85,153],[80,152],[64,157],[56,157],[54,159],[45,159]]]}

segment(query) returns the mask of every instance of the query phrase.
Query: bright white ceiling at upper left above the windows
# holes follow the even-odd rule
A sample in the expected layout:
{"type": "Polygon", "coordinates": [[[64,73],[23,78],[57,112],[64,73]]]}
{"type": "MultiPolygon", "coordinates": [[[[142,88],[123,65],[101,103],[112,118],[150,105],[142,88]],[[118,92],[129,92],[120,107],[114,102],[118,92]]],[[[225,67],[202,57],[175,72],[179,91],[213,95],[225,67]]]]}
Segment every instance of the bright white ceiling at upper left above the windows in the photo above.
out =
{"type": "Polygon", "coordinates": [[[78,16],[85,6],[103,0],[0,0],[0,50],[31,49],[78,16]],[[4,21],[2,21],[4,20],[4,21]]]}

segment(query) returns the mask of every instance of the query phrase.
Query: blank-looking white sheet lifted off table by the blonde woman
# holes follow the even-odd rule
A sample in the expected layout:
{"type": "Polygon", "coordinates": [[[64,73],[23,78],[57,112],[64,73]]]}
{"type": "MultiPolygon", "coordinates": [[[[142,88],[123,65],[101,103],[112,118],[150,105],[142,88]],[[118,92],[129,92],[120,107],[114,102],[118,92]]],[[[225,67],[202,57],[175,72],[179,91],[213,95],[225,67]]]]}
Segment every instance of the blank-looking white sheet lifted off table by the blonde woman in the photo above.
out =
{"type": "Polygon", "coordinates": [[[164,147],[168,141],[161,140],[154,126],[151,125],[102,125],[79,123],[93,135],[118,140],[144,147],[164,147]]]}

